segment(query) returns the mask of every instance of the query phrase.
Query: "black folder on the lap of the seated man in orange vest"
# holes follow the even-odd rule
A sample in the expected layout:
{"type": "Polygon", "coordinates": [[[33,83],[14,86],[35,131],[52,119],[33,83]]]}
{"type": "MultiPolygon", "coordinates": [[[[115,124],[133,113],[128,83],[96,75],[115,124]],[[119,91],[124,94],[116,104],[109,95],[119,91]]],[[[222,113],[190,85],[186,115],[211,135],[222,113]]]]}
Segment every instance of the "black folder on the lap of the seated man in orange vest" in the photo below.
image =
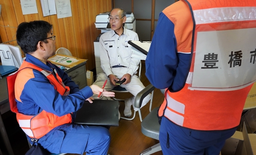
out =
{"type": "Polygon", "coordinates": [[[92,100],[84,101],[84,105],[76,112],[75,124],[118,126],[118,101],[92,100]]]}

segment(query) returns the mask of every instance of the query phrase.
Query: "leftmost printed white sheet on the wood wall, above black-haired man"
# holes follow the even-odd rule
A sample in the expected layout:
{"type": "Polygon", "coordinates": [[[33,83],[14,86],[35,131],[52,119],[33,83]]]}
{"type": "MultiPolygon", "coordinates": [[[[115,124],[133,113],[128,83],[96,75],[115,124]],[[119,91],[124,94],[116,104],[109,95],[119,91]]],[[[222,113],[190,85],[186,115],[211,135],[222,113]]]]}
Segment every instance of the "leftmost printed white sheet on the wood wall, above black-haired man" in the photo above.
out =
{"type": "Polygon", "coordinates": [[[22,14],[38,13],[36,0],[20,0],[22,14]]]}

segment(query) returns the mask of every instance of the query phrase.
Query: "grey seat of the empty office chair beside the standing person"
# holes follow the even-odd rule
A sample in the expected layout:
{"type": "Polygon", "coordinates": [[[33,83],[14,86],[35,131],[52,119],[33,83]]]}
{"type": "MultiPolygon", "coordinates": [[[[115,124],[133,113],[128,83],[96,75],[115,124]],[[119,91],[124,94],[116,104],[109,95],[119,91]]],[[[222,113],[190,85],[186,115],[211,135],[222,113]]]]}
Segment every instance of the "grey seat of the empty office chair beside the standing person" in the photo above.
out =
{"type": "Polygon", "coordinates": [[[153,109],[144,120],[141,122],[141,132],[148,137],[159,140],[160,124],[158,122],[157,110],[159,107],[153,109]]]}

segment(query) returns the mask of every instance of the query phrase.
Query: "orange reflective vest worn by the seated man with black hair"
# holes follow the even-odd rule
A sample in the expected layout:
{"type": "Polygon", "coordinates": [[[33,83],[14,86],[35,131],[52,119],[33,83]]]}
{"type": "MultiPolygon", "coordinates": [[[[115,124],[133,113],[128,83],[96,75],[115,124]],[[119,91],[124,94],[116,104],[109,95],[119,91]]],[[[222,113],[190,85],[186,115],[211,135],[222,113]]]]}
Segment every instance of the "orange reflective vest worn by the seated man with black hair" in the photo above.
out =
{"type": "Polygon", "coordinates": [[[64,85],[60,76],[57,74],[55,70],[54,71],[56,73],[58,81],[55,79],[53,73],[45,71],[38,66],[28,63],[27,61],[23,61],[22,65],[20,66],[17,72],[6,77],[11,111],[16,113],[17,121],[21,129],[26,133],[26,135],[28,135],[31,138],[39,139],[42,136],[46,135],[53,128],[66,123],[71,123],[72,117],[71,114],[66,114],[64,116],[59,117],[57,115],[54,115],[53,113],[46,112],[44,110],[36,115],[26,115],[18,112],[17,102],[15,100],[15,80],[17,75],[21,73],[21,70],[22,72],[28,72],[31,69],[35,69],[44,74],[44,76],[46,76],[46,78],[51,82],[51,84],[54,85],[54,89],[56,89],[61,95],[68,95],[70,89],[68,86],[64,85]]]}

